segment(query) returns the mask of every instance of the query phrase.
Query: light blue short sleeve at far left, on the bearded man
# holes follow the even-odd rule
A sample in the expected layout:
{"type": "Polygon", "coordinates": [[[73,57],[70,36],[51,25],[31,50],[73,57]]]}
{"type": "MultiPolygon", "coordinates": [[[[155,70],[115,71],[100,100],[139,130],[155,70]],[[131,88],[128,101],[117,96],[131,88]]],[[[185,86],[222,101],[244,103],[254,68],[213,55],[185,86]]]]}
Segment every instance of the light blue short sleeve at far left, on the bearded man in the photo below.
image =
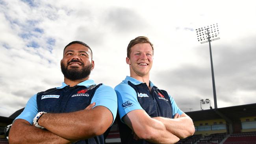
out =
{"type": "Polygon", "coordinates": [[[37,94],[33,95],[26,104],[25,109],[22,111],[22,113],[15,118],[17,119],[24,119],[28,121],[31,125],[33,124],[33,118],[38,113],[37,109],[37,94]]]}

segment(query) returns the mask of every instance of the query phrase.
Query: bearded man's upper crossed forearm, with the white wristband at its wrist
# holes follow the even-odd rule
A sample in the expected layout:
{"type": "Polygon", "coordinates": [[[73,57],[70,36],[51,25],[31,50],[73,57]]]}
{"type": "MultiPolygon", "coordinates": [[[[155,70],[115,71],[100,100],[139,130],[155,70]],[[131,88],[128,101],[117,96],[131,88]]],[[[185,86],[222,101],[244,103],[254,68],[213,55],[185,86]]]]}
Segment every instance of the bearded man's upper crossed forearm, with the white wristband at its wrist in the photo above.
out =
{"type": "Polygon", "coordinates": [[[112,122],[111,112],[103,106],[72,113],[46,113],[38,120],[40,126],[70,140],[102,135],[112,122]]]}

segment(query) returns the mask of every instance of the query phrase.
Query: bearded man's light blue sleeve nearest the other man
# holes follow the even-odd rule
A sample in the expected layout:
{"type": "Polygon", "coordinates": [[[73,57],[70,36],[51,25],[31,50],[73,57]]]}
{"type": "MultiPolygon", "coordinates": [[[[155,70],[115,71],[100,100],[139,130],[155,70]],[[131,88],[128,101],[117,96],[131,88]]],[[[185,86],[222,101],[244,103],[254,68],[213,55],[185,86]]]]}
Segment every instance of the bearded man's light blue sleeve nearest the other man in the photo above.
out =
{"type": "MultiPolygon", "coordinates": [[[[117,94],[115,90],[109,86],[101,85],[96,89],[95,94],[91,100],[91,103],[95,102],[95,106],[104,106],[111,111],[113,115],[113,122],[117,116],[117,94]]],[[[112,122],[112,124],[113,124],[112,122]]]]}

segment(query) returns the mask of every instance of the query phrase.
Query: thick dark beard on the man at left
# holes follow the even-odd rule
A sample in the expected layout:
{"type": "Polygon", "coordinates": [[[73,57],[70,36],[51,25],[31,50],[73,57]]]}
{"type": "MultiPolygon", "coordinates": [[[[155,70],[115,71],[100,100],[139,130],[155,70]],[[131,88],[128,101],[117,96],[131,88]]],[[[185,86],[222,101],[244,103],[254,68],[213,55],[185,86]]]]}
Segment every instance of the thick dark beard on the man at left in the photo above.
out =
{"type": "MultiPolygon", "coordinates": [[[[72,60],[70,62],[76,62],[77,60],[72,60]]],[[[67,79],[70,79],[72,81],[87,78],[91,74],[91,68],[92,65],[85,66],[84,63],[82,63],[82,69],[76,68],[75,66],[68,69],[69,63],[67,63],[67,66],[64,65],[63,62],[61,62],[61,72],[63,73],[64,77],[67,79]]],[[[81,61],[79,61],[81,63],[81,61]]]]}

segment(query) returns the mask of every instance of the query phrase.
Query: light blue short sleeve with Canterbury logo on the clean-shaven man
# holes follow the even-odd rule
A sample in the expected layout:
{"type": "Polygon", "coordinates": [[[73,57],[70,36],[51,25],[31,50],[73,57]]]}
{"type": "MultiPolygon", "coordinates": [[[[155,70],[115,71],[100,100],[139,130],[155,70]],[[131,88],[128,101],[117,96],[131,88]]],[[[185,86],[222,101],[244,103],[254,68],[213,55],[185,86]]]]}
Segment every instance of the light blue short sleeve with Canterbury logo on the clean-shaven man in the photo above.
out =
{"type": "Polygon", "coordinates": [[[120,119],[136,109],[143,109],[137,100],[137,93],[130,85],[121,83],[115,87],[117,93],[118,113],[120,119]]]}

